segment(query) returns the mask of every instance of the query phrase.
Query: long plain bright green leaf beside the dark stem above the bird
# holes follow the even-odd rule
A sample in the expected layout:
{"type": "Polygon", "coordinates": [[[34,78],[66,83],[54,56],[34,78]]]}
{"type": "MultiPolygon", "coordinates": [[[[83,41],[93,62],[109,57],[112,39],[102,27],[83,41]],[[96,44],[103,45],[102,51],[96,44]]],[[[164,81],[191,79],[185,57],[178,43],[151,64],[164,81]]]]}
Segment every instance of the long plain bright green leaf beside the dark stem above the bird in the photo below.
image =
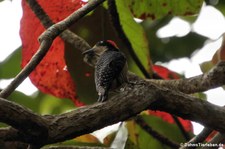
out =
{"type": "MultiPolygon", "coordinates": [[[[135,22],[126,1],[116,0],[116,6],[124,33],[129,39],[134,52],[140,59],[142,65],[150,72],[151,59],[149,46],[143,27],[135,22]]],[[[138,72],[134,67],[130,68],[132,71],[135,71],[135,73],[138,72]]]]}

